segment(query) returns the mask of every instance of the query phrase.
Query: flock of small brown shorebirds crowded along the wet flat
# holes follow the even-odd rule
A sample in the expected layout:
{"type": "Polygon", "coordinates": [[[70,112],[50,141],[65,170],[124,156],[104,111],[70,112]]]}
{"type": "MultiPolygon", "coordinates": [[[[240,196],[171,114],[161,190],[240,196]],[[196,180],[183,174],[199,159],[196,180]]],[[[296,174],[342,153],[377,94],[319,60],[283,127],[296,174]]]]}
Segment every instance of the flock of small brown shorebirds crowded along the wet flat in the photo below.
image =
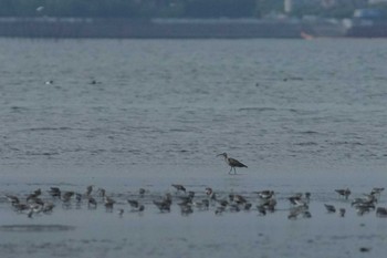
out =
{"type": "MultiPolygon", "coordinates": [[[[211,187],[203,187],[203,189],[195,192],[187,189],[181,184],[171,184],[166,193],[151,193],[149,189],[139,188],[137,192],[108,194],[104,188],[95,188],[95,186],[90,185],[83,193],[63,190],[59,187],[50,187],[46,190],[39,188],[27,195],[4,194],[0,198],[0,203],[9,203],[17,214],[25,214],[29,218],[50,215],[56,207],[95,210],[103,207],[107,213],[115,211],[119,217],[124,213],[143,214],[145,210],[163,214],[178,210],[184,216],[195,211],[210,211],[215,215],[249,211],[266,216],[281,210],[287,211],[287,219],[312,217],[310,204],[313,196],[310,192],[276,197],[279,193],[269,189],[238,194],[233,190],[215,192],[211,187]]],[[[347,204],[359,216],[375,213],[377,217],[387,218],[387,207],[378,206],[383,192],[384,188],[374,187],[369,193],[351,199],[352,192],[348,188],[335,189],[338,195],[335,200],[336,203],[339,200],[339,204],[347,204]]],[[[318,205],[317,202],[316,205],[318,205]]],[[[333,204],[322,202],[321,205],[324,205],[327,214],[337,213],[339,217],[346,215],[344,207],[336,208],[333,204]]]]}

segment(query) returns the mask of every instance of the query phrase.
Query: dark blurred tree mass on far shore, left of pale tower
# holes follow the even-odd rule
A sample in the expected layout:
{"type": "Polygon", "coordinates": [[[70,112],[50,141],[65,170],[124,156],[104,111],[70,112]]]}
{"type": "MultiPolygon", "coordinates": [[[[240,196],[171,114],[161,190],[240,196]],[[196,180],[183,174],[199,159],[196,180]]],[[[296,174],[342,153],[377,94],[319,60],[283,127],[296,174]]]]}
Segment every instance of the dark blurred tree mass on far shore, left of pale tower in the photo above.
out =
{"type": "Polygon", "coordinates": [[[0,0],[0,16],[241,18],[255,17],[257,2],[257,0],[0,0]]]}

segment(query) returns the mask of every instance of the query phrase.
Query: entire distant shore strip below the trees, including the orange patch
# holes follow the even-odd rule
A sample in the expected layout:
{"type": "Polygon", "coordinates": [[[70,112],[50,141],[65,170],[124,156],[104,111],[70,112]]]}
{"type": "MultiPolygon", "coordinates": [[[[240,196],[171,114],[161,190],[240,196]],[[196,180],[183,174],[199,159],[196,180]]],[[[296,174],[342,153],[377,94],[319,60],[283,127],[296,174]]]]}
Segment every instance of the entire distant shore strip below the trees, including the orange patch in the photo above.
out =
{"type": "Polygon", "coordinates": [[[0,18],[0,37],[117,39],[299,39],[387,37],[387,24],[300,21],[292,19],[92,19],[0,18]]]}

